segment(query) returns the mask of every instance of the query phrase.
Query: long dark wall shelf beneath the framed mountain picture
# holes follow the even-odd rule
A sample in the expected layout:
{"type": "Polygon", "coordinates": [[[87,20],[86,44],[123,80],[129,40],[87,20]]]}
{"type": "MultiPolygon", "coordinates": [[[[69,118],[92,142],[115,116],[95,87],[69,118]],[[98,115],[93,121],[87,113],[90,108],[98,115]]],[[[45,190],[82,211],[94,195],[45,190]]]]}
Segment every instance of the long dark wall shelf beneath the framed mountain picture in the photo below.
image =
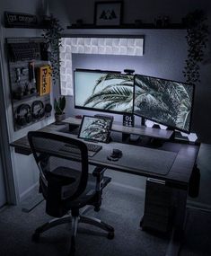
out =
{"type": "Polygon", "coordinates": [[[182,23],[171,23],[165,27],[158,27],[154,23],[131,23],[131,24],[122,24],[119,26],[97,26],[94,24],[72,24],[67,26],[66,29],[68,30],[75,30],[75,29],[154,29],[154,30],[184,30],[186,27],[182,23]]]}

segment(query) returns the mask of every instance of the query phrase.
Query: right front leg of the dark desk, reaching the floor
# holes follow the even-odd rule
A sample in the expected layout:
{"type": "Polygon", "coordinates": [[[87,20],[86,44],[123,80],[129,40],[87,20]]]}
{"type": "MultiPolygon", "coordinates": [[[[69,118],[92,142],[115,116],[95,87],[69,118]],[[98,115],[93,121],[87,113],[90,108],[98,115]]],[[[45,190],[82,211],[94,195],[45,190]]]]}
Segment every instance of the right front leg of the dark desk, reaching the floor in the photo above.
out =
{"type": "Polygon", "coordinates": [[[176,213],[171,234],[171,241],[168,245],[165,256],[177,256],[184,238],[184,225],[186,218],[187,190],[175,190],[176,213]]]}

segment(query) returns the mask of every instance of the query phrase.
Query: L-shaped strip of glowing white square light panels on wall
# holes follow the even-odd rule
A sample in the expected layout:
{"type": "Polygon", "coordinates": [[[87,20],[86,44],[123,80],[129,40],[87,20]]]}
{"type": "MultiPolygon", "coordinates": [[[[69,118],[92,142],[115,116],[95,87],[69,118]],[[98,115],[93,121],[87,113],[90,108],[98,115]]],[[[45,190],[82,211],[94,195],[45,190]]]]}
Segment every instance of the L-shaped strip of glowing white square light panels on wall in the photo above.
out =
{"type": "Polygon", "coordinates": [[[72,53],[143,56],[143,36],[121,37],[68,37],[60,47],[60,84],[62,95],[73,95],[72,53]]]}

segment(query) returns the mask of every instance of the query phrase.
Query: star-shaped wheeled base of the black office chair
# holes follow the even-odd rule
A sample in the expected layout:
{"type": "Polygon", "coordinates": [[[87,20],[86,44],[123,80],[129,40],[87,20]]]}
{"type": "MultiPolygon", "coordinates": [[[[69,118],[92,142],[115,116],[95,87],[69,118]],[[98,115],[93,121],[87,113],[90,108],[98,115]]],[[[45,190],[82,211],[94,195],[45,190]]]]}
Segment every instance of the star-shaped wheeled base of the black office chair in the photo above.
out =
{"type": "Polygon", "coordinates": [[[48,229],[62,224],[72,224],[71,228],[71,244],[69,249],[68,256],[74,256],[75,255],[75,236],[77,233],[77,225],[78,223],[84,223],[84,224],[90,224],[99,227],[100,229],[107,232],[107,238],[113,239],[114,238],[114,228],[111,225],[108,225],[104,222],[102,222],[100,219],[95,217],[87,217],[83,215],[79,216],[63,216],[61,218],[54,218],[44,225],[41,225],[38,227],[34,234],[32,234],[32,241],[33,242],[39,242],[40,234],[44,233],[48,229]]]}

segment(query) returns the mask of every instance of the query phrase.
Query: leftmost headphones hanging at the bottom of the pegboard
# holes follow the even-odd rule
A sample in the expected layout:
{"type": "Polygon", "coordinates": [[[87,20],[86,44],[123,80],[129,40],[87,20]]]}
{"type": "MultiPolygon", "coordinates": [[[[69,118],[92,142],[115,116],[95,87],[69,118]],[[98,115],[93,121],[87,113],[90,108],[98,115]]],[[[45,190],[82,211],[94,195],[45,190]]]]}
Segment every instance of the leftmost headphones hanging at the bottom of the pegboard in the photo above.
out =
{"type": "Polygon", "coordinates": [[[18,106],[17,110],[17,117],[15,119],[15,122],[19,126],[25,126],[28,123],[31,123],[32,117],[31,117],[31,107],[29,104],[21,104],[18,106]],[[25,113],[22,113],[22,112],[25,113]]]}

